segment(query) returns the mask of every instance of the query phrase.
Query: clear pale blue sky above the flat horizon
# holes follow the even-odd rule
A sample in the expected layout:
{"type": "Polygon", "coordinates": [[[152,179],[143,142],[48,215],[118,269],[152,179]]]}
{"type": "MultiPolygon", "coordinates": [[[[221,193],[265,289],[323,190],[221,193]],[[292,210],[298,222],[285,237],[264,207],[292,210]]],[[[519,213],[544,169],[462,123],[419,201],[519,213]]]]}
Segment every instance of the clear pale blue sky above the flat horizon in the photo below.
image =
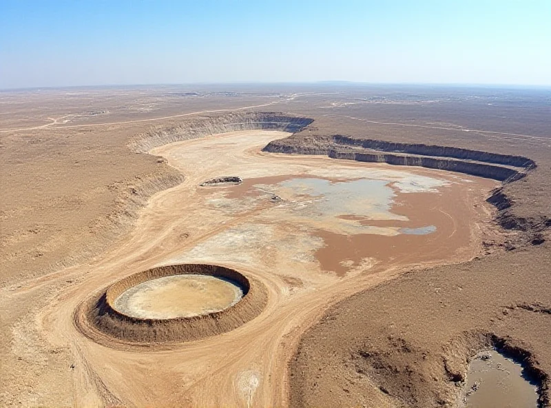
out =
{"type": "Polygon", "coordinates": [[[0,88],[551,85],[551,0],[0,0],[0,88]]]}

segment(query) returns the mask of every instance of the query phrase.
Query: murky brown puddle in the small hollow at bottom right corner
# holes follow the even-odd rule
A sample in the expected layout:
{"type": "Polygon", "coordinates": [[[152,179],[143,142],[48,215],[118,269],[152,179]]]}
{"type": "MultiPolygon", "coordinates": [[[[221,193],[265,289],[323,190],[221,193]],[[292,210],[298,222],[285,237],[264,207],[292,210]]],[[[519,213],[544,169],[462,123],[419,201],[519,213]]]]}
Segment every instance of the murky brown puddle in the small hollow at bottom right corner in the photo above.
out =
{"type": "Polygon", "coordinates": [[[472,359],[461,394],[463,407],[537,408],[537,399],[537,385],[511,358],[490,350],[472,359]]]}

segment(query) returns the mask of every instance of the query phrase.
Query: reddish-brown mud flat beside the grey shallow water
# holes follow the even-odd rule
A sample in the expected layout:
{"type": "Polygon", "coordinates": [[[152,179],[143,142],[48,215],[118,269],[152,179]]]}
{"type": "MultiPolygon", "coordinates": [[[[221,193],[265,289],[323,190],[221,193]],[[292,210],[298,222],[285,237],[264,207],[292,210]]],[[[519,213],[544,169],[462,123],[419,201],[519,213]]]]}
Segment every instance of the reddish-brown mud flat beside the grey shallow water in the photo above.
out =
{"type": "Polygon", "coordinates": [[[396,235],[342,235],[324,230],[316,232],[315,234],[325,243],[325,246],[318,249],[315,255],[322,269],[337,272],[341,276],[350,269],[351,263],[357,265],[362,258],[375,258],[387,265],[397,258],[400,263],[407,262],[408,256],[412,261],[415,258],[415,262],[422,262],[453,254],[458,247],[468,245],[470,241],[468,221],[463,223],[461,218],[455,220],[446,211],[457,213],[459,203],[464,201],[461,197],[462,193],[455,188],[440,188],[446,189],[445,194],[397,194],[393,200],[391,212],[406,217],[406,221],[346,217],[354,218],[362,225],[395,227],[398,232],[396,235]],[[434,227],[434,229],[428,227],[434,227]],[[408,234],[403,232],[406,228],[410,230],[426,228],[425,231],[428,233],[408,234]],[[446,245],[437,245],[443,240],[446,240],[446,245]],[[416,248],[415,253],[411,252],[412,247],[416,248]]]}

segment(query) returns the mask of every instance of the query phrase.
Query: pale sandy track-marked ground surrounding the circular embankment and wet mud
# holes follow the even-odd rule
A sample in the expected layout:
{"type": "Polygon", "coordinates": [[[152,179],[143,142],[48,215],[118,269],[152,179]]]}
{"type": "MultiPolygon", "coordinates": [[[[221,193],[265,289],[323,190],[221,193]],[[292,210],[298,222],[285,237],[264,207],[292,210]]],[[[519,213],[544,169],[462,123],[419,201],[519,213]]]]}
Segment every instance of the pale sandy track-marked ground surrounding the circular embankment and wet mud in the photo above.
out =
{"type": "Polygon", "coordinates": [[[388,165],[260,152],[269,141],[286,136],[283,132],[233,132],[159,147],[154,153],[178,167],[187,177],[185,183],[156,194],[141,213],[134,232],[89,265],[29,281],[8,295],[16,302],[20,296],[39,294],[46,286],[63,287],[62,283],[72,282],[59,289],[37,323],[54,347],[70,347],[72,351],[74,405],[284,406],[289,389],[288,361],[301,334],[327,307],[393,278],[412,264],[419,267],[461,261],[478,254],[481,237],[487,233],[483,220],[489,218],[490,210],[484,198],[495,185],[492,181],[432,170],[399,169],[404,174],[455,182],[446,188],[459,189],[453,205],[435,208],[452,220],[448,226],[439,225],[441,242],[426,244],[432,248],[432,259],[419,261],[418,248],[411,247],[402,256],[341,277],[320,271],[318,263],[293,259],[293,251],[295,255],[304,254],[312,247],[307,240],[289,241],[300,233],[296,225],[263,215],[273,205],[269,201],[231,207],[224,201],[222,190],[216,190],[218,187],[209,187],[207,193],[198,187],[202,181],[225,174],[248,179],[312,170],[396,171],[388,165]],[[464,180],[470,183],[461,182],[464,180]],[[214,204],[205,208],[205,202],[214,204]],[[448,214],[450,208],[455,212],[448,214]],[[459,235],[457,223],[463,227],[462,241],[448,243],[447,236],[459,235]],[[267,241],[258,238],[258,243],[250,243],[247,232],[236,237],[239,234],[235,230],[243,225],[252,230],[260,225],[263,230],[251,232],[251,240],[268,235],[267,241]],[[234,231],[231,239],[224,235],[228,231],[234,231]],[[98,345],[74,326],[74,310],[98,289],[139,270],[188,261],[218,263],[258,278],[269,290],[264,312],[220,336],[155,347],[98,345]]]}

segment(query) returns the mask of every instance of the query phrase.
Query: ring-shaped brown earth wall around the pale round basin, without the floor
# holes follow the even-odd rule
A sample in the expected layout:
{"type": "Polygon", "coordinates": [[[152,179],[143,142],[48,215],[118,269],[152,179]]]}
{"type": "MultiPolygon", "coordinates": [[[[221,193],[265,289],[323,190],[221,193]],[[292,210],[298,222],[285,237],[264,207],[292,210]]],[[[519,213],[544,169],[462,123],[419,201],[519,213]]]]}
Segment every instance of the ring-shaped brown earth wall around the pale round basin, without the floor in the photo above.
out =
{"type": "Polygon", "coordinates": [[[81,332],[106,343],[109,338],[123,343],[175,343],[198,340],[222,334],[252,320],[267,304],[266,287],[256,278],[218,265],[183,264],[148,269],[111,285],[101,296],[95,296],[79,307],[75,323],[81,332]],[[114,307],[116,298],[130,287],[165,276],[202,274],[231,279],[243,289],[241,300],[211,314],[170,319],[136,318],[114,307]]]}

